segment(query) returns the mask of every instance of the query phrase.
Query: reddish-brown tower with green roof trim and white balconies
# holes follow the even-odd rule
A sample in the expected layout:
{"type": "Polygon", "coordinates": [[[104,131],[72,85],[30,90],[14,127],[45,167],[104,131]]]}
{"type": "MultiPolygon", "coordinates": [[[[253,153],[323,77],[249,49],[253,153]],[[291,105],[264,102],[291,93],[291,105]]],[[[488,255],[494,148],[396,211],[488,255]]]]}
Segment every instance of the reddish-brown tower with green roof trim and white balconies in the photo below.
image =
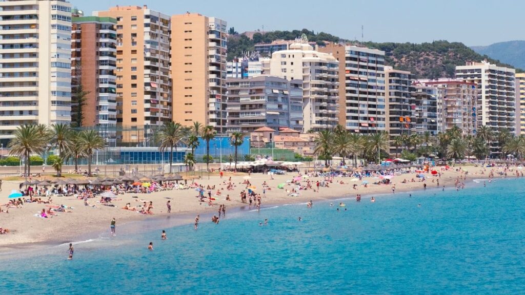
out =
{"type": "Polygon", "coordinates": [[[83,16],[77,9],[73,9],[73,15],[71,86],[77,92],[81,90],[87,94],[80,106],[78,102],[72,102],[72,123],[79,127],[96,126],[103,138],[114,143],[117,125],[117,19],[83,16]]]}

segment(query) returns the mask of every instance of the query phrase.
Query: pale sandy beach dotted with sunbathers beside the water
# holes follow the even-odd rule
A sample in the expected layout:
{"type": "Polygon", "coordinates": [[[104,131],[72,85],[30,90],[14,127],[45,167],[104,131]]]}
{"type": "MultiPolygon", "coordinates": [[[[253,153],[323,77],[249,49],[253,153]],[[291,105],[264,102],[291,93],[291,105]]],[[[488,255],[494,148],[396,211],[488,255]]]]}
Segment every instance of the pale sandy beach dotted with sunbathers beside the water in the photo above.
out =
{"type": "MultiPolygon", "coordinates": [[[[266,194],[262,196],[262,208],[268,206],[274,206],[279,204],[292,204],[308,202],[312,200],[314,203],[320,200],[336,199],[342,197],[355,197],[356,194],[361,194],[363,198],[378,195],[376,197],[377,202],[381,202],[381,197],[388,197],[388,194],[392,194],[392,186],[395,185],[395,194],[399,194],[407,191],[416,191],[424,188],[426,183],[427,189],[442,188],[445,186],[446,190],[455,191],[455,182],[458,177],[463,177],[466,173],[466,180],[461,180],[465,184],[471,182],[474,179],[487,179],[491,171],[494,172],[494,177],[505,177],[500,175],[503,173],[504,168],[502,167],[490,167],[482,168],[475,166],[455,166],[450,167],[450,170],[444,170],[444,168],[437,167],[437,171],[441,173],[440,176],[432,176],[428,173],[425,175],[427,179],[425,182],[419,181],[416,177],[415,172],[406,173],[402,175],[396,175],[392,179],[392,183],[388,185],[373,184],[379,179],[374,177],[365,177],[363,180],[369,181],[368,187],[364,187],[361,182],[352,182],[353,177],[334,177],[333,182],[329,183],[329,187],[320,187],[318,192],[314,192],[313,189],[300,190],[298,196],[290,196],[287,191],[297,187],[290,182],[293,177],[298,176],[296,173],[288,173],[286,175],[274,175],[274,179],[270,179],[270,175],[267,174],[251,174],[250,183],[257,187],[256,192],[262,195],[262,184],[266,182],[270,189],[266,190],[266,194]],[[461,171],[457,171],[461,168],[461,171]],[[414,178],[415,182],[411,182],[414,178]],[[406,180],[406,183],[403,181],[406,180]],[[340,182],[343,182],[341,184],[340,182]],[[439,181],[439,186],[437,185],[439,181]],[[286,183],[283,189],[277,188],[279,184],[286,183]],[[356,189],[353,188],[354,184],[358,184],[356,189]]],[[[507,170],[507,177],[516,177],[516,167],[510,167],[507,170]]],[[[19,246],[30,246],[33,243],[57,243],[62,244],[68,241],[75,241],[80,236],[85,236],[87,233],[103,233],[109,232],[109,225],[111,218],[116,218],[117,226],[121,226],[126,223],[134,222],[137,220],[144,220],[146,218],[165,217],[169,215],[166,213],[166,202],[171,201],[172,210],[170,215],[182,216],[182,215],[196,215],[196,214],[213,214],[217,212],[220,204],[226,205],[226,215],[228,210],[232,208],[246,207],[248,205],[241,203],[240,192],[246,190],[246,184],[243,184],[244,177],[247,176],[245,173],[228,173],[220,178],[218,175],[212,175],[209,177],[205,176],[203,179],[195,179],[194,182],[204,185],[204,187],[215,185],[215,194],[217,190],[220,191],[220,195],[216,196],[213,206],[209,206],[207,203],[199,202],[197,197],[198,193],[195,189],[184,189],[184,190],[170,190],[163,192],[154,192],[150,194],[135,194],[126,193],[119,195],[118,199],[112,203],[114,207],[104,206],[98,203],[99,198],[90,198],[89,202],[92,206],[84,206],[81,199],[71,197],[53,197],[53,205],[66,205],[73,207],[71,213],[58,213],[57,216],[50,218],[41,218],[35,216],[43,208],[46,208],[46,204],[38,203],[27,203],[23,208],[8,208],[9,213],[0,213],[0,227],[8,228],[9,234],[0,235],[0,251],[9,251],[19,246]],[[232,182],[235,184],[233,190],[227,190],[228,178],[232,178],[232,182]],[[226,201],[226,196],[230,196],[230,201],[226,201]],[[142,200],[142,201],[138,201],[142,200]],[[142,202],[153,202],[154,215],[144,215],[130,210],[122,209],[122,207],[131,203],[131,206],[142,205],[142,202]]],[[[304,178],[301,183],[306,185],[307,181],[310,181],[312,187],[316,187],[317,181],[323,181],[324,177],[310,176],[304,178]]],[[[4,181],[2,184],[3,191],[0,193],[0,204],[2,209],[7,209],[5,204],[8,201],[7,196],[12,189],[18,189],[20,182],[9,182],[4,181]]],[[[368,202],[367,199],[363,200],[368,202]]],[[[204,220],[207,221],[207,220],[204,220]]],[[[190,222],[190,220],[188,220],[190,222]]],[[[94,238],[97,235],[93,234],[94,238]]]]}

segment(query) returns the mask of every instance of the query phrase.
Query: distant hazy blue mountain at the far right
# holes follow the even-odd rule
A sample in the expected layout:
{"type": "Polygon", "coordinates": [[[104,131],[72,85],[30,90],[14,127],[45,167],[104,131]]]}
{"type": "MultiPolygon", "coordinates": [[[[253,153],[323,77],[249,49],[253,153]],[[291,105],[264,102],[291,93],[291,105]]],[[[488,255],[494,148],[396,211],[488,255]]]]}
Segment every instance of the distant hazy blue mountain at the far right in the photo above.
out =
{"type": "Polygon", "coordinates": [[[525,41],[523,40],[494,43],[489,46],[471,46],[470,48],[479,54],[525,69],[525,41]]]}

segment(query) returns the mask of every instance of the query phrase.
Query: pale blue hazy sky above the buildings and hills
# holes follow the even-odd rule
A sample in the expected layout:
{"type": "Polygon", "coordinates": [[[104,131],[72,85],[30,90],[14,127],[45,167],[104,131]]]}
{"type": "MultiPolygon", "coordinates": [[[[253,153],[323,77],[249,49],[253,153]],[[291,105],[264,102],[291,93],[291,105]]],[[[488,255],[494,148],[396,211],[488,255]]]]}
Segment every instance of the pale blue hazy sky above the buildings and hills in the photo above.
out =
{"type": "Polygon", "coordinates": [[[489,45],[525,40],[522,0],[69,0],[91,15],[115,5],[148,5],[172,15],[215,16],[239,33],[308,28],[365,41],[421,43],[432,40],[489,45]]]}

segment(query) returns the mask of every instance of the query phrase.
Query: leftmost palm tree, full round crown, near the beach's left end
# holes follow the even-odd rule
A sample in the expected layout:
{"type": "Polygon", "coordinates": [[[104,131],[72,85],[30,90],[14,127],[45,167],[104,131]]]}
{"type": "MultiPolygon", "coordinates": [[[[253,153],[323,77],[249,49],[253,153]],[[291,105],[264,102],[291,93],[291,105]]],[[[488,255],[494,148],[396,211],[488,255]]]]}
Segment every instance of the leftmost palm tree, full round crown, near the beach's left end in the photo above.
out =
{"type": "Polygon", "coordinates": [[[7,144],[9,155],[16,155],[20,159],[24,157],[24,175],[31,173],[31,154],[41,154],[46,150],[48,137],[43,135],[47,133],[39,125],[31,124],[20,125],[13,133],[15,137],[7,144]]]}

